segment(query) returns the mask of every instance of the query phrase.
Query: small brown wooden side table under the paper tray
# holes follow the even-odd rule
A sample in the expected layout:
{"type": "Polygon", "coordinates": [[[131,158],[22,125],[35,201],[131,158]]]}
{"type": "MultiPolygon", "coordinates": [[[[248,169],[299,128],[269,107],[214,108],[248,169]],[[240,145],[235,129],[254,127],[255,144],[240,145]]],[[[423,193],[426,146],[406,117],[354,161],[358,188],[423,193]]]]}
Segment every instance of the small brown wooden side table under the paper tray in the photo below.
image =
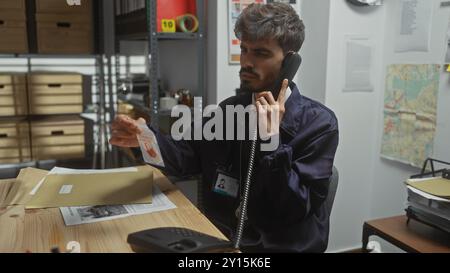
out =
{"type": "Polygon", "coordinates": [[[450,235],[413,219],[407,224],[406,216],[377,219],[364,223],[363,250],[367,250],[369,237],[376,235],[406,252],[450,253],[450,235]]]}

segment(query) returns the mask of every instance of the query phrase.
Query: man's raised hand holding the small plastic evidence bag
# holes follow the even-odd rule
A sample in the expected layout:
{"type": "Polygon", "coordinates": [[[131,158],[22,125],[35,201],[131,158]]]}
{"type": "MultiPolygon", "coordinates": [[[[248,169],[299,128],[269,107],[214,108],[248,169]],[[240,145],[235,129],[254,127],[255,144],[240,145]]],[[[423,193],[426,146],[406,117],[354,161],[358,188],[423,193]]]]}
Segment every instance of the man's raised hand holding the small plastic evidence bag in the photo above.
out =
{"type": "Polygon", "coordinates": [[[134,120],[125,115],[118,115],[111,126],[112,137],[109,143],[119,147],[139,147],[137,135],[142,132],[139,125],[146,124],[145,119],[134,120]]]}

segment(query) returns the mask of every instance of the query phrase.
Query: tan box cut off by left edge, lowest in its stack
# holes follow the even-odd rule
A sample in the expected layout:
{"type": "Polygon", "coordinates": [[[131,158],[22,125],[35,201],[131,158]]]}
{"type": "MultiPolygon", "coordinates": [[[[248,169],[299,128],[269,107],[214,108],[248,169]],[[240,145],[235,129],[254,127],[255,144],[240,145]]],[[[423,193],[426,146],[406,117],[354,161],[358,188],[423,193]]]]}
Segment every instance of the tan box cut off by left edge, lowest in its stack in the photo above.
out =
{"type": "Polygon", "coordinates": [[[0,164],[31,161],[29,125],[20,119],[0,121],[0,164]]]}

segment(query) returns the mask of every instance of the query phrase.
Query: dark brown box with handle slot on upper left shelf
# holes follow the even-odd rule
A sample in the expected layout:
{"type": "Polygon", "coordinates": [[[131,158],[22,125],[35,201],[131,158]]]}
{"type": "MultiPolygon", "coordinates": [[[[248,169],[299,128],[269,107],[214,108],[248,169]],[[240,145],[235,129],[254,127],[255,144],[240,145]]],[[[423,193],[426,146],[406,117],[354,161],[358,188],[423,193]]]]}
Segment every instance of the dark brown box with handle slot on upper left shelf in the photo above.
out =
{"type": "Polygon", "coordinates": [[[91,18],[72,14],[36,14],[36,21],[38,53],[93,53],[91,18]]]}

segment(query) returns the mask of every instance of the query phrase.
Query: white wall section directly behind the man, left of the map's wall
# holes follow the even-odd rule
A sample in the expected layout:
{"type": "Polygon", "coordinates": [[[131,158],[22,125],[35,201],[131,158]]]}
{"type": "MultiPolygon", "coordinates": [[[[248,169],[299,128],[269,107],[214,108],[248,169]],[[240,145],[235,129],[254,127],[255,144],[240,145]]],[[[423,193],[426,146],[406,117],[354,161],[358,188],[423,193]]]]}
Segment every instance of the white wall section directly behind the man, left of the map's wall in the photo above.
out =
{"type": "MultiPolygon", "coordinates": [[[[308,0],[306,0],[308,1],[308,0]]],[[[304,12],[308,12],[304,10],[304,12]]],[[[377,143],[378,95],[383,82],[374,81],[372,93],[343,93],[345,35],[368,36],[374,44],[374,79],[382,78],[385,12],[383,8],[353,7],[330,1],[328,62],[325,102],[339,120],[340,143],[336,154],[339,189],[332,214],[329,250],[352,248],[361,240],[361,227],[370,207],[372,166],[377,143]],[[358,12],[356,12],[358,11],[358,12]]]]}

